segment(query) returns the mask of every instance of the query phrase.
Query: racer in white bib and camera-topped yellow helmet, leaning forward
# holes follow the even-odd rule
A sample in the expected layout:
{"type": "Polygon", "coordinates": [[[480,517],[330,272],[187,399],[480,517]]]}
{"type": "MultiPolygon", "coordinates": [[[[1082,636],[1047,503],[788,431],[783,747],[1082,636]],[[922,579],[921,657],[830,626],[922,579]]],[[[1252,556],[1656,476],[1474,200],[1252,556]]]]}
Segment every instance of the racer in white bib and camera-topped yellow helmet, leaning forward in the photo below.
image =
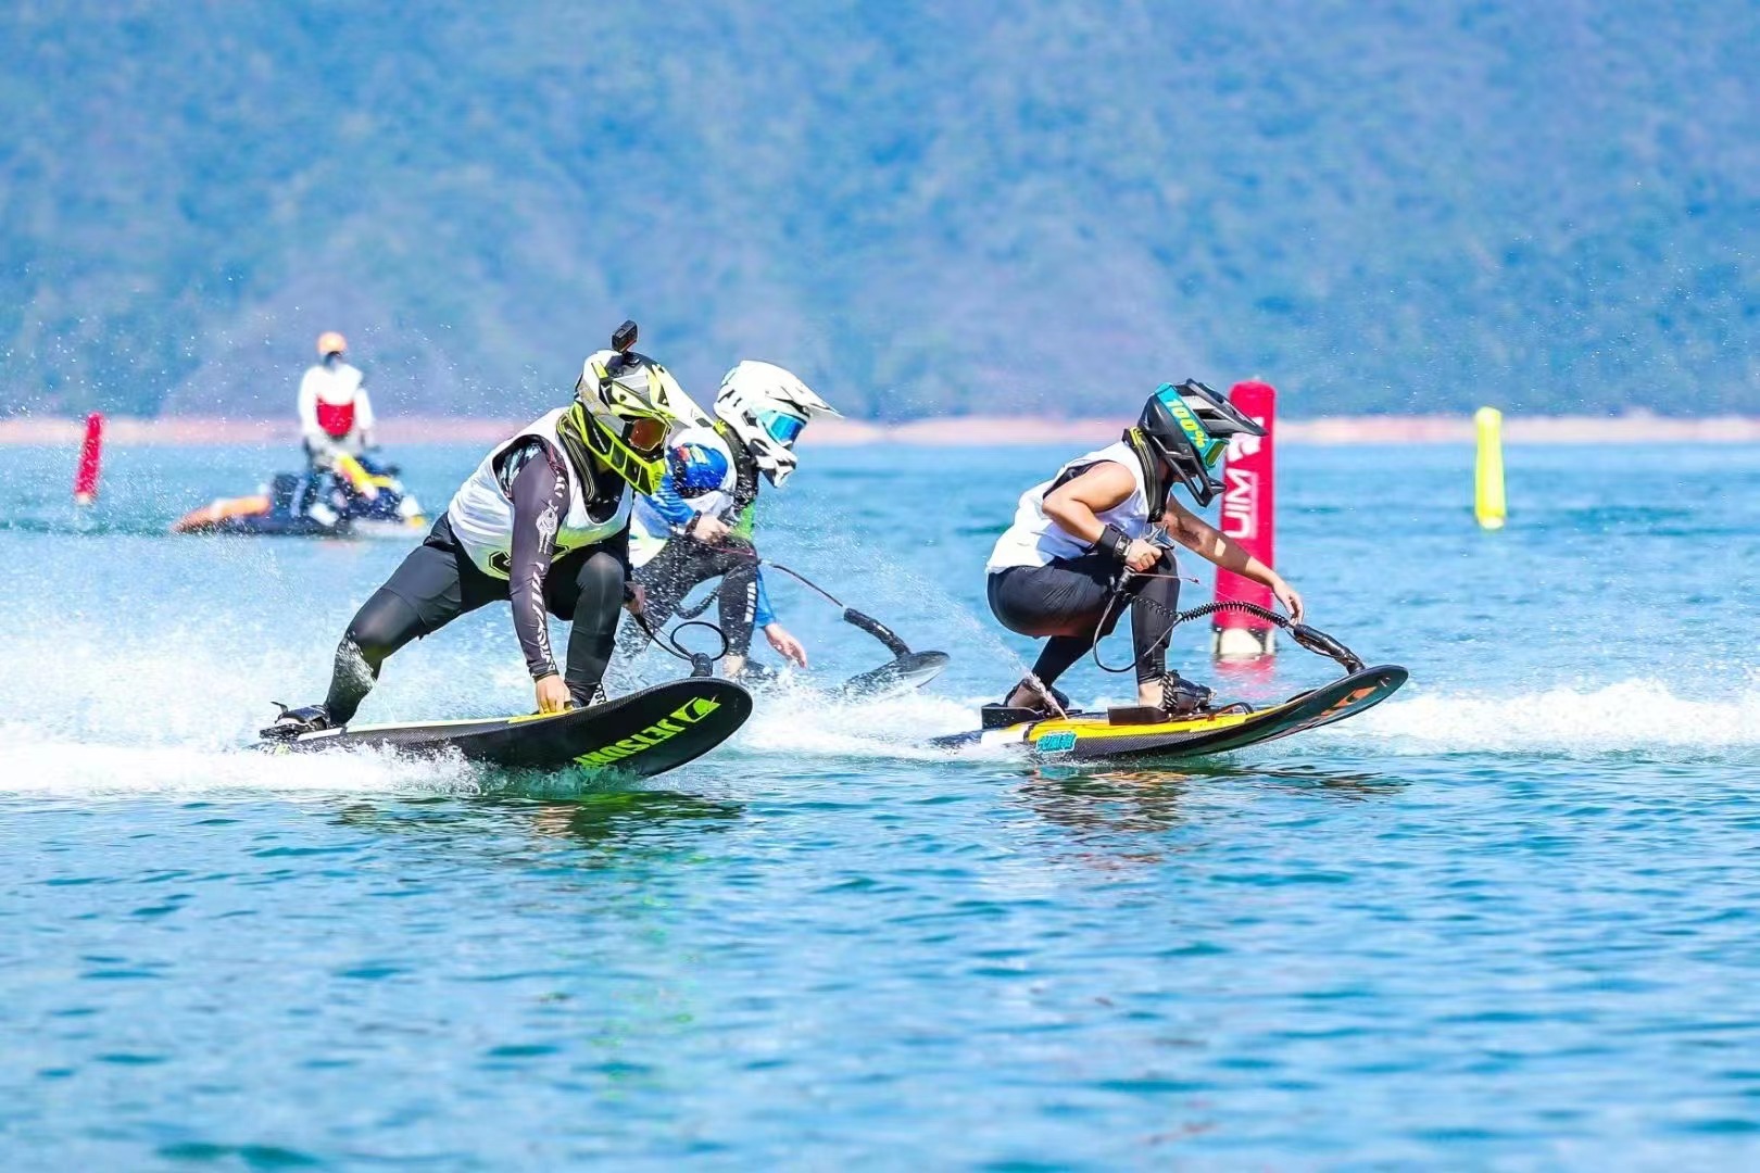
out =
{"type": "Polygon", "coordinates": [[[630,350],[634,343],[635,324],[625,322],[612,350],[583,364],[572,404],[484,457],[428,540],[348,624],[324,703],[285,710],[266,737],[347,725],[392,652],[502,600],[512,603],[539,712],[604,700],[600,681],[628,587],[632,498],[660,487],[667,433],[708,422],[664,366],[630,350]],[[574,624],[561,672],[546,612],[574,624]]]}

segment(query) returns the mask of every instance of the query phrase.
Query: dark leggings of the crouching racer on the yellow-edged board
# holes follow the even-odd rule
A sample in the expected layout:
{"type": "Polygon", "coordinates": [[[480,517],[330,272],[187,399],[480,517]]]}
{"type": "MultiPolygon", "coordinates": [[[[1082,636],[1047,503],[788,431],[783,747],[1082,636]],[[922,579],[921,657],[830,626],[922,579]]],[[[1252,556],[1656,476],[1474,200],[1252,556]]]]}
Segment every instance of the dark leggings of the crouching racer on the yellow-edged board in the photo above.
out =
{"type": "MultiPolygon", "coordinates": [[[[1114,600],[1112,580],[1118,573],[1119,565],[1111,556],[1082,554],[1047,566],[1008,566],[989,577],[991,614],[1001,626],[1019,635],[1051,637],[1033,663],[1033,675],[1047,688],[1102,637],[1112,635],[1126,610],[1132,645],[1140,656],[1137,681],[1153,681],[1167,672],[1165,637],[1172,624],[1155,607],[1114,600]],[[1155,651],[1144,654],[1148,647],[1155,651]]],[[[1179,579],[1170,550],[1149,568],[1149,575],[1132,575],[1125,594],[1160,603],[1167,612],[1179,610],[1179,579]]]]}

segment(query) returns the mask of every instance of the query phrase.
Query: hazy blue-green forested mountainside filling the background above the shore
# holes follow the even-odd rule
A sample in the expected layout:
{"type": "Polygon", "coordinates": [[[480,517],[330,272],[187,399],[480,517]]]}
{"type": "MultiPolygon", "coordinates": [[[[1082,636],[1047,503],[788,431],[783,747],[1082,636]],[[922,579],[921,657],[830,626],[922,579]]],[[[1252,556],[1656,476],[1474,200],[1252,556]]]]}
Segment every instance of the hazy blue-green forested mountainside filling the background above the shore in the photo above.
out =
{"type": "Polygon", "coordinates": [[[11,412],[1760,412],[1741,0],[9,0],[11,412]]]}

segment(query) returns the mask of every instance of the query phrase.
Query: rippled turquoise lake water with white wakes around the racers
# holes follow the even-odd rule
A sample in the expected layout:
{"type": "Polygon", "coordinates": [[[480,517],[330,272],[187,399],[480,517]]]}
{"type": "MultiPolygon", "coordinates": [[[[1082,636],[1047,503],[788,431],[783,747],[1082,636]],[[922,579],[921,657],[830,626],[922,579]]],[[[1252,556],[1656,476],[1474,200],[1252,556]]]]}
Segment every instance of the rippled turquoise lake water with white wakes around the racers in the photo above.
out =
{"type": "MultiPolygon", "coordinates": [[[[438,506],[477,454],[400,455],[438,506]]],[[[815,672],[581,788],[241,749],[403,549],[164,536],[259,450],[116,450],[84,522],[0,450],[5,1166],[1760,1157],[1760,450],[1512,448],[1484,535],[1468,450],[1288,448],[1285,572],[1399,696],[1181,770],[924,751],[1019,672],[982,561],[1067,455],[810,448],[767,552],[952,668],[834,705],[876,647],[776,582],[815,672]]],[[[495,608],[364,716],[528,703],[495,608]]]]}

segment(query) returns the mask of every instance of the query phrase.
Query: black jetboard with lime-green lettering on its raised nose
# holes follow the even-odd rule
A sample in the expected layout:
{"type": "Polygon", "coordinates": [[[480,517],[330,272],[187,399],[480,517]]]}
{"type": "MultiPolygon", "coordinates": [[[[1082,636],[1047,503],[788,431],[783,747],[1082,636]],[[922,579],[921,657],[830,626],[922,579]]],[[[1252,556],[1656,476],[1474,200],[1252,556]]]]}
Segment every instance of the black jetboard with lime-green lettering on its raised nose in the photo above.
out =
{"type": "Polygon", "coordinates": [[[752,695],[729,681],[690,677],[591,709],[517,718],[350,725],[303,733],[271,749],[391,747],[412,754],[461,754],[524,770],[607,770],[651,777],[699,758],[744,725],[752,695]]]}

